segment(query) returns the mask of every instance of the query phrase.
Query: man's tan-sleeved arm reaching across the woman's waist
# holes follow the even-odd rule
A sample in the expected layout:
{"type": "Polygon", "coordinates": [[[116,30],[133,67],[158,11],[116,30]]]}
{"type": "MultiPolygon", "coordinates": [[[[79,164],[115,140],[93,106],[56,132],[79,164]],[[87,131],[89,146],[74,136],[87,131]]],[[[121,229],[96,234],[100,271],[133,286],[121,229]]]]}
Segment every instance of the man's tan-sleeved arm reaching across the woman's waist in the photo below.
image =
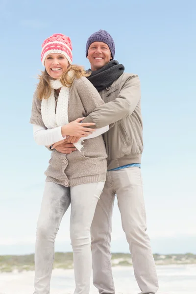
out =
{"type": "Polygon", "coordinates": [[[140,79],[138,75],[129,76],[116,99],[98,106],[82,122],[96,123],[97,128],[116,123],[132,114],[140,99],[140,79]]]}

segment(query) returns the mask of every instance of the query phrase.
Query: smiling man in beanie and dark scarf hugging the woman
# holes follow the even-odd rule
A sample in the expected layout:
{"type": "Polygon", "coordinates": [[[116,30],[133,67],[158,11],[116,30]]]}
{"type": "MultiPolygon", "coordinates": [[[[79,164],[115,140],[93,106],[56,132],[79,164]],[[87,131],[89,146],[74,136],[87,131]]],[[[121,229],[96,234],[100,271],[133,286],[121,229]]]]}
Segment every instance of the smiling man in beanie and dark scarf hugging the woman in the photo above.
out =
{"type": "MultiPolygon", "coordinates": [[[[96,123],[97,128],[110,125],[109,131],[103,135],[108,154],[107,180],[91,227],[93,282],[99,294],[115,293],[110,242],[116,195],[141,294],[155,294],[158,281],[146,233],[141,176],[143,125],[140,80],[137,74],[124,73],[123,65],[114,60],[114,55],[115,44],[106,31],[99,30],[89,37],[86,57],[92,73],[88,79],[105,104],[97,107],[83,123],[96,123]]],[[[72,147],[62,144],[56,149],[66,153],[72,147]]]]}

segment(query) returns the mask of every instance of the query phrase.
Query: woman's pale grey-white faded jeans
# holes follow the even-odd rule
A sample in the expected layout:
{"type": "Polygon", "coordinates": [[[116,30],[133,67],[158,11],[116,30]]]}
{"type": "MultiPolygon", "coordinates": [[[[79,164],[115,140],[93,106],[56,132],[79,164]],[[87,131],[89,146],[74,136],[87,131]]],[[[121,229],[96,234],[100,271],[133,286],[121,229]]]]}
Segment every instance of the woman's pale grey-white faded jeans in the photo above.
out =
{"type": "Polygon", "coordinates": [[[75,275],[74,294],[88,294],[92,269],[90,227],[104,182],[71,188],[46,182],[37,224],[35,292],[49,294],[54,260],[54,239],[71,202],[70,237],[75,275]]]}

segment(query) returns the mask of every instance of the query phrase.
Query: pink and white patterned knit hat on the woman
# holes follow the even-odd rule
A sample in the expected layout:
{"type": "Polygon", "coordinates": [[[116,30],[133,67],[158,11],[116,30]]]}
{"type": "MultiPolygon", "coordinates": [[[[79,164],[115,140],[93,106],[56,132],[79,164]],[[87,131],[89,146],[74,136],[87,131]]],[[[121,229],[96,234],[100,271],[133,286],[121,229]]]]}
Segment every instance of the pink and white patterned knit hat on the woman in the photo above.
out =
{"type": "Polygon", "coordinates": [[[70,64],[72,64],[72,42],[69,37],[63,34],[53,34],[42,44],[41,61],[44,65],[46,56],[51,53],[61,53],[65,55],[70,64]]]}

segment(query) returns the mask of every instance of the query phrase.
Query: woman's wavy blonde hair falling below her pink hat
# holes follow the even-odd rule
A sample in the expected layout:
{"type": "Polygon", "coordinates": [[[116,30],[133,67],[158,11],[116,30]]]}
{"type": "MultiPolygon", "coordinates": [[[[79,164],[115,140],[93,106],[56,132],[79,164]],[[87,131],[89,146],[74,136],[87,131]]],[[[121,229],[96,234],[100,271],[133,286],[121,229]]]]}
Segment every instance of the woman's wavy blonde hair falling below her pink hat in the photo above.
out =
{"type": "MultiPolygon", "coordinates": [[[[66,72],[63,73],[63,75],[59,78],[61,81],[62,85],[64,87],[71,87],[74,78],[80,78],[82,76],[89,76],[91,73],[85,72],[83,67],[79,65],[69,65],[66,72]],[[68,73],[70,71],[73,71],[74,74],[69,75],[68,73]]],[[[51,86],[50,86],[50,80],[51,77],[47,73],[46,69],[44,72],[42,72],[41,75],[38,76],[39,78],[39,83],[37,85],[37,96],[40,100],[48,99],[49,96],[51,95],[51,86]]]]}

